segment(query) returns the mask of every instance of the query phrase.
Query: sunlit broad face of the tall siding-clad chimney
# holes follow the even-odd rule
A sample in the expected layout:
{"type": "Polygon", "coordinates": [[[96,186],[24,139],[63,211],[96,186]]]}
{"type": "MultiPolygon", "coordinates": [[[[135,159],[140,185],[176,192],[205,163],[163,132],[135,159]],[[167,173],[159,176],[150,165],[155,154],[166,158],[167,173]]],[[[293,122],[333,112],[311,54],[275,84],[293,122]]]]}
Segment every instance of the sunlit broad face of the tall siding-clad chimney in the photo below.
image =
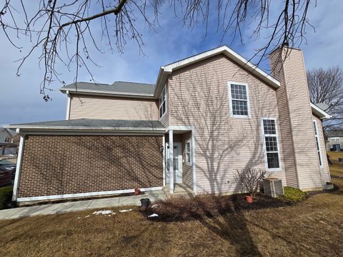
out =
{"type": "Polygon", "coordinates": [[[272,53],[272,59],[277,59],[281,51],[283,54],[282,59],[279,59],[283,60],[282,69],[274,69],[273,75],[284,78],[280,83],[281,88],[286,88],[284,97],[288,103],[298,188],[322,188],[304,58],[301,50],[288,50],[284,48],[272,53]],[[284,59],[286,52],[287,58],[284,59]]]}

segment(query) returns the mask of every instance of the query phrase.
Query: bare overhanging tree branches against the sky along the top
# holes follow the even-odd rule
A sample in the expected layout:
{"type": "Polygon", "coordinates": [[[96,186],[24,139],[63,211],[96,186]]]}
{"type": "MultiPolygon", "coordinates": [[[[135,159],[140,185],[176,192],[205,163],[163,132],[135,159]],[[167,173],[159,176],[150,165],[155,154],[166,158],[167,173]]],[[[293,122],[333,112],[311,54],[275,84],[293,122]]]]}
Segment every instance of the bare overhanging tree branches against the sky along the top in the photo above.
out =
{"type": "MultiPolygon", "coordinates": [[[[54,81],[64,84],[60,71],[57,71],[58,64],[63,64],[68,71],[74,69],[75,78],[79,69],[86,69],[91,75],[89,64],[99,66],[90,56],[91,47],[99,53],[106,53],[113,52],[115,45],[122,53],[126,43],[133,41],[144,54],[139,24],[144,23],[156,31],[158,18],[163,15],[161,9],[166,6],[172,8],[176,18],[189,29],[204,24],[204,37],[210,30],[222,34],[218,45],[227,38],[230,44],[236,39],[244,44],[247,28],[251,29],[249,40],[257,40],[267,32],[264,45],[256,49],[249,60],[257,57],[258,65],[282,44],[298,47],[303,41],[306,43],[307,25],[311,26],[307,12],[312,1],[315,3],[315,0],[275,1],[276,9],[271,7],[274,4],[271,0],[41,0],[34,4],[5,0],[0,9],[0,26],[5,38],[16,49],[21,49],[17,43],[22,40],[21,36],[32,44],[19,62],[18,76],[32,53],[42,49],[39,58],[44,69],[41,94],[49,101],[46,94],[49,85],[54,81]],[[93,35],[97,25],[101,27],[100,38],[93,35]],[[106,41],[109,49],[101,47],[101,40],[106,41]],[[77,54],[70,55],[76,47],[79,49],[77,54]]],[[[92,75],[91,80],[94,81],[92,75]]]]}

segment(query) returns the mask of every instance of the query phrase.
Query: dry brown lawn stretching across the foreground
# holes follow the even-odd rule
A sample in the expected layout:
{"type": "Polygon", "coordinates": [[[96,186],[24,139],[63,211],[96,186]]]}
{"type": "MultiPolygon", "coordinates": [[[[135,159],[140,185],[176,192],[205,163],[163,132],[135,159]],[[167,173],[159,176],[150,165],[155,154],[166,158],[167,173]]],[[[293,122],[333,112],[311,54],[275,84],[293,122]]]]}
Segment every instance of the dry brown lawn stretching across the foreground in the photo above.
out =
{"type": "Polygon", "coordinates": [[[203,220],[148,221],[136,209],[111,208],[110,217],[0,221],[0,256],[343,256],[343,178],[332,181],[339,191],[294,206],[203,220]]]}

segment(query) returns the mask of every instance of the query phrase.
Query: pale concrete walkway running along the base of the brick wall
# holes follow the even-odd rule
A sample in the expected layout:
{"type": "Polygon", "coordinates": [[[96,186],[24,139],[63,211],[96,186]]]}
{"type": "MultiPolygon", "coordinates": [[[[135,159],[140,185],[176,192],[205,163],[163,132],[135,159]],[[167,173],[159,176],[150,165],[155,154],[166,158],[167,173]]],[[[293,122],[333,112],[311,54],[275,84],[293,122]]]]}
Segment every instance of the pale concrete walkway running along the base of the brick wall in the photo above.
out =
{"type": "Polygon", "coordinates": [[[140,206],[141,198],[149,198],[151,202],[164,199],[163,191],[145,192],[139,196],[117,196],[114,198],[102,198],[86,201],[69,201],[65,203],[50,203],[39,206],[11,208],[0,211],[0,220],[11,218],[23,218],[57,213],[69,213],[74,211],[86,211],[94,208],[109,208],[117,206],[140,206]]]}

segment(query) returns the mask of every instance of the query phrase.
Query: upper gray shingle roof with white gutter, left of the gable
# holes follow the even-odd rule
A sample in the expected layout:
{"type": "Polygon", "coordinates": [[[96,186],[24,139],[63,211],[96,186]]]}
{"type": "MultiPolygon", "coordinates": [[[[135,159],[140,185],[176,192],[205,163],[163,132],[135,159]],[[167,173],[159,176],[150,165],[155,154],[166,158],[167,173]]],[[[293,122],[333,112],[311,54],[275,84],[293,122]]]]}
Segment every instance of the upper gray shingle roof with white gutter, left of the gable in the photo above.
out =
{"type": "MultiPolygon", "coordinates": [[[[75,84],[69,84],[61,89],[61,91],[75,90],[75,84]]],[[[132,95],[147,95],[153,96],[155,86],[153,84],[143,84],[135,82],[115,81],[114,84],[95,84],[89,82],[77,82],[77,90],[81,91],[98,91],[108,92],[113,94],[132,94],[132,95]]]]}

